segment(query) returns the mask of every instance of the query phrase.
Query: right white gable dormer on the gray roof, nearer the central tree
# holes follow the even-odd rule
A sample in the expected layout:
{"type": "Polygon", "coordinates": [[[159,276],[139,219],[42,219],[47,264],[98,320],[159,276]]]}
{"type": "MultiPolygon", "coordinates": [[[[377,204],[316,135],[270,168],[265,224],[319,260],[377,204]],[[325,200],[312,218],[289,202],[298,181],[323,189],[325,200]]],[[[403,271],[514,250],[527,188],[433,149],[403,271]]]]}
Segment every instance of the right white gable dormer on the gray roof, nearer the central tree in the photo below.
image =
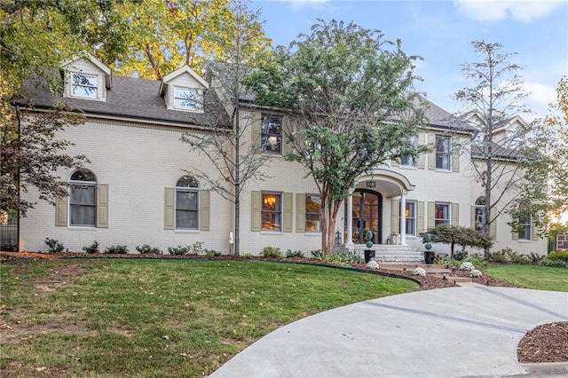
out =
{"type": "Polygon", "coordinates": [[[160,96],[168,109],[203,113],[203,96],[208,88],[209,83],[185,65],[162,78],[160,96]]]}

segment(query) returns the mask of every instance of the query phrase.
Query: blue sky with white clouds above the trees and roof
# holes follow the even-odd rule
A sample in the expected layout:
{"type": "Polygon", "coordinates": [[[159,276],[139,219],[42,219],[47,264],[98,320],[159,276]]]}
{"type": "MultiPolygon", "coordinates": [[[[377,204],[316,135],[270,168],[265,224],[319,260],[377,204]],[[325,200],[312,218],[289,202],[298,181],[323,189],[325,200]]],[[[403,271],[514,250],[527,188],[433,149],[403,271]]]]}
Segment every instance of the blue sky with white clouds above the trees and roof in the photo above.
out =
{"type": "Polygon", "coordinates": [[[503,51],[517,52],[514,62],[525,68],[525,89],[532,93],[525,103],[536,116],[547,114],[560,77],[568,75],[565,0],[253,0],[250,8],[261,9],[264,32],[273,45],[288,46],[299,33],[310,34],[317,19],[353,21],[381,30],[385,39],[401,39],[406,54],[423,58],[415,71],[423,82],[415,89],[452,113],[466,109],[451,95],[471,86],[461,74],[461,64],[483,59],[471,41],[501,43],[503,51]]]}

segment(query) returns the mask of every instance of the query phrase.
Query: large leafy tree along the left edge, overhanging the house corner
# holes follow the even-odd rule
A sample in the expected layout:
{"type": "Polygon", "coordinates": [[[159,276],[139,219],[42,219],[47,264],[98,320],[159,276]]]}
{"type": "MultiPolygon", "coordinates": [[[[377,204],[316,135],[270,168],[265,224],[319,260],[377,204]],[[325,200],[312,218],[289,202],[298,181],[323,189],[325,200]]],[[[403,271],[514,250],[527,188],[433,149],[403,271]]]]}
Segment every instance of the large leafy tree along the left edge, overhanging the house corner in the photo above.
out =
{"type": "Polygon", "coordinates": [[[5,0],[0,4],[0,210],[12,217],[34,206],[22,201],[20,191],[35,186],[40,199],[52,201],[65,192],[53,172],[80,167],[84,156],[64,153],[69,143],[56,133],[81,122],[77,114],[56,104],[53,112],[36,113],[32,95],[36,86],[60,91],[54,75],[62,59],[92,51],[110,56],[122,45],[126,24],[116,17],[122,2],[5,0]],[[26,83],[26,85],[24,85],[26,83]]]}

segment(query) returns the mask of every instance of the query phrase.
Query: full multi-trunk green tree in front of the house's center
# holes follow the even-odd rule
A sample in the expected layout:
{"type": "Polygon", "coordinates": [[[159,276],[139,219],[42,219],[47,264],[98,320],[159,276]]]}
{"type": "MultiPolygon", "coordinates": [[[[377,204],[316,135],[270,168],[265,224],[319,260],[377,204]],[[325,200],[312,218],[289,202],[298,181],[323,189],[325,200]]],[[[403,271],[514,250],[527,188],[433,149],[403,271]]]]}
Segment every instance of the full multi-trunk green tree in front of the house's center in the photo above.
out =
{"type": "Polygon", "coordinates": [[[410,91],[415,56],[379,30],[319,20],[312,35],[279,47],[248,83],[264,105],[289,109],[288,141],[321,197],[322,253],[333,252],[340,205],[357,177],[391,159],[416,155],[408,138],[426,124],[410,91]]]}

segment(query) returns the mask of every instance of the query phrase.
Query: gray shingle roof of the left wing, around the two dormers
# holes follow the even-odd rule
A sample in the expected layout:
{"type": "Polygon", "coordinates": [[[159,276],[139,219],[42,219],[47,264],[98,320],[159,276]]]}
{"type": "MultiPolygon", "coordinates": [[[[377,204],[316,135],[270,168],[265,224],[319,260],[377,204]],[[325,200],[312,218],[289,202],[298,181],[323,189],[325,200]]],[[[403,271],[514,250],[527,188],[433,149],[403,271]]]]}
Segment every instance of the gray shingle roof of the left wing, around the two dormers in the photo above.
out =
{"type": "Polygon", "coordinates": [[[215,91],[205,91],[204,113],[191,113],[168,109],[165,99],[160,96],[160,84],[158,80],[113,75],[113,86],[111,90],[106,91],[106,101],[53,96],[47,89],[32,87],[30,83],[26,90],[32,92],[34,106],[38,108],[50,108],[57,100],[86,114],[132,118],[133,121],[146,120],[180,126],[206,127],[227,127],[230,124],[229,116],[220,104],[215,91]]]}

